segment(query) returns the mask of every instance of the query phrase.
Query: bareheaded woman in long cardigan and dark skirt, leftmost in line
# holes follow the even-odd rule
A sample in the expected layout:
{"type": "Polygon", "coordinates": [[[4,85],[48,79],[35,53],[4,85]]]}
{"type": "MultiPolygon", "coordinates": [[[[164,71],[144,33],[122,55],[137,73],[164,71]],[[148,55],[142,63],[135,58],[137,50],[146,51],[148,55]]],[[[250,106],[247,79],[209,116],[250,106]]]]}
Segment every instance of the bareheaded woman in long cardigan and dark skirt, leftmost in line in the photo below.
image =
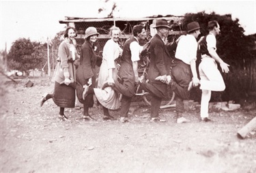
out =
{"type": "Polygon", "coordinates": [[[55,68],[55,87],[53,94],[48,94],[41,101],[41,106],[48,99],[59,106],[59,119],[66,121],[67,116],[64,114],[65,108],[74,108],[75,90],[77,95],[83,94],[83,86],[75,82],[75,66],[74,60],[79,57],[76,50],[76,29],[68,27],[64,34],[64,40],[59,45],[57,59],[58,63],[55,68]]]}

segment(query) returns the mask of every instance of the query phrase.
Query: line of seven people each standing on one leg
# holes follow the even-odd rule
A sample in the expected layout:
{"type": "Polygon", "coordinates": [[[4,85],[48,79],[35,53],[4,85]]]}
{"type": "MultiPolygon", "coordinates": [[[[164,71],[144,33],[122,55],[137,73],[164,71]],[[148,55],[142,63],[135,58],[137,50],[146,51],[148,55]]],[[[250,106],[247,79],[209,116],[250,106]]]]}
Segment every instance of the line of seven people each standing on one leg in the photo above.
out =
{"type": "Polygon", "coordinates": [[[53,99],[59,106],[59,119],[67,120],[64,108],[74,108],[76,97],[83,104],[83,119],[93,119],[89,115],[89,108],[94,105],[94,95],[103,108],[103,120],[113,120],[109,110],[120,108],[119,116],[122,123],[128,122],[128,110],[135,95],[135,84],[152,95],[150,120],[165,122],[160,119],[159,109],[162,99],[167,93],[167,87],[175,93],[177,123],[187,123],[184,114],[184,99],[190,96],[190,89],[200,84],[201,120],[212,121],[208,117],[208,104],[211,91],[224,91],[225,83],[217,63],[223,72],[229,72],[229,65],[216,53],[216,35],[220,33],[220,26],[215,20],[208,22],[209,34],[197,42],[200,34],[198,22],[187,25],[188,34],[182,35],[173,44],[166,44],[169,33],[167,20],[156,20],[156,34],[150,42],[140,46],[145,40],[146,31],[143,25],[135,25],[130,37],[120,48],[118,41],[121,31],[118,27],[111,27],[111,39],[106,42],[102,53],[102,63],[98,74],[96,86],[96,40],[98,31],[95,27],[88,27],[85,31],[85,42],[79,54],[76,42],[76,29],[68,27],[64,34],[65,40],[59,46],[59,58],[55,68],[55,89],[53,94],[42,98],[41,106],[48,99],[53,99]],[[150,67],[145,76],[138,74],[138,61],[140,54],[149,47],[150,67]],[[201,51],[202,61],[197,75],[196,59],[197,50],[201,51]],[[175,51],[175,59],[171,59],[171,52],[175,51]],[[121,58],[120,67],[117,58],[121,58]],[[79,67],[74,66],[74,61],[80,59],[79,67]],[[122,99],[120,99],[122,95],[122,99]]]}

